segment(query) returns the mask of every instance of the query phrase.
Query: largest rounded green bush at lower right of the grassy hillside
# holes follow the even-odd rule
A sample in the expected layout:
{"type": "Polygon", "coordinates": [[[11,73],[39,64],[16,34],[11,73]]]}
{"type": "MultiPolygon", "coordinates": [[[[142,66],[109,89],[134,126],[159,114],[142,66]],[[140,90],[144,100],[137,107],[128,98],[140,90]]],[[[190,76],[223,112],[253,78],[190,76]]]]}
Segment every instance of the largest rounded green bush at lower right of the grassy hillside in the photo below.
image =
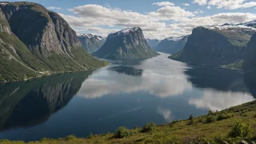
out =
{"type": "Polygon", "coordinates": [[[243,123],[241,120],[236,121],[233,129],[229,133],[230,137],[242,137],[248,138],[252,134],[252,128],[250,124],[243,123]]]}

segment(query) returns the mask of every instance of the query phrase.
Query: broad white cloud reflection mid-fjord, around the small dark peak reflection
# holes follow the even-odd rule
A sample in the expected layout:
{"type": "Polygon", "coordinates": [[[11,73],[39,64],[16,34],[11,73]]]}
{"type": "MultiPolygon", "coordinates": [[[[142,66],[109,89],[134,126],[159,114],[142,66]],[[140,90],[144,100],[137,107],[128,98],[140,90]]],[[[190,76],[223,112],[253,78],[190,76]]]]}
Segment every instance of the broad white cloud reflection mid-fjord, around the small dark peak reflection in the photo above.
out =
{"type": "Polygon", "coordinates": [[[183,73],[187,68],[185,64],[168,60],[166,56],[143,60],[141,65],[115,65],[95,71],[93,76],[84,81],[77,95],[97,98],[144,91],[158,97],[172,97],[182,95],[185,90],[191,90],[192,86],[183,73]],[[141,76],[137,76],[138,74],[141,76]]]}

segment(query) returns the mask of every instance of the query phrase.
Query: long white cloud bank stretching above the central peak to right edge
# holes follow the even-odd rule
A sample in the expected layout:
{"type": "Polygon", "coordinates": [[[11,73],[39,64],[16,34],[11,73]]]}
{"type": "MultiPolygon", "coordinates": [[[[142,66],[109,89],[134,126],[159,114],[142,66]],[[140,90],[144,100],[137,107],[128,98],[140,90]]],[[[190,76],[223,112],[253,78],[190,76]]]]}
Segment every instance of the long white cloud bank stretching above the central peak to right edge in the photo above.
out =
{"type": "Polygon", "coordinates": [[[144,36],[150,39],[188,35],[193,28],[200,25],[245,23],[256,19],[255,14],[239,12],[195,17],[195,14],[203,11],[198,9],[193,13],[175,6],[164,6],[156,11],[143,14],[96,4],[73,7],[69,11],[76,16],[64,15],[63,13],[60,15],[78,31],[82,29],[90,31],[90,33],[107,36],[108,33],[119,31],[122,28],[139,26],[143,29],[144,36]],[[167,25],[167,21],[171,21],[172,24],[167,25]],[[115,28],[111,28],[113,26],[115,28]],[[117,30],[117,28],[119,29],[117,30]]]}

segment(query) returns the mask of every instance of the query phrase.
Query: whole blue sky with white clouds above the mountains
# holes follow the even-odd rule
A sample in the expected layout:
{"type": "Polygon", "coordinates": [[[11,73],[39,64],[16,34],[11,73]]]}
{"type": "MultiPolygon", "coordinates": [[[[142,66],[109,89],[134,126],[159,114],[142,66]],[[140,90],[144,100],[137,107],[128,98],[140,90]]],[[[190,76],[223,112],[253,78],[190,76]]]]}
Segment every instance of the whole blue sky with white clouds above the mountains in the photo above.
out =
{"type": "Polygon", "coordinates": [[[145,38],[161,40],[191,34],[200,25],[256,20],[256,0],[28,1],[57,12],[76,33],[105,37],[124,28],[140,27],[145,38]]]}

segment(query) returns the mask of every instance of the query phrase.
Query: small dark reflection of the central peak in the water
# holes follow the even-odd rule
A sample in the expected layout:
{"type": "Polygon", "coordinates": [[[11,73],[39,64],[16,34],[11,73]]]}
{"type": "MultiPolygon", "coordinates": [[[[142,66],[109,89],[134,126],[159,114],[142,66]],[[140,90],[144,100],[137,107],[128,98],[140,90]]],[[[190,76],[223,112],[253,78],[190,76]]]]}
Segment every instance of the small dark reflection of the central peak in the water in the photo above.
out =
{"type": "Polygon", "coordinates": [[[132,66],[125,66],[125,65],[120,65],[120,66],[115,66],[112,68],[109,68],[110,70],[116,71],[118,73],[125,73],[129,76],[142,76],[143,75],[143,70],[142,69],[136,69],[132,66]]]}

